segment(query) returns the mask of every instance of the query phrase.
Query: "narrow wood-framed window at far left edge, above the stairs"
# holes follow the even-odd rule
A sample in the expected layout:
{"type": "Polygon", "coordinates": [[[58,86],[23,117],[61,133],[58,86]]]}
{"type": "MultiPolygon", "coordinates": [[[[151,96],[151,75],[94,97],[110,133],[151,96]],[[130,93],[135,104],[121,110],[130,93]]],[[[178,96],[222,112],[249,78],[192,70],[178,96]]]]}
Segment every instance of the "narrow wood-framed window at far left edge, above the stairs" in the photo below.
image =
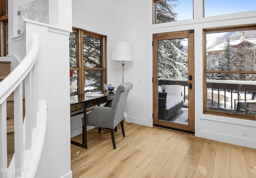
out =
{"type": "Polygon", "coordinates": [[[0,10],[0,56],[8,55],[8,0],[1,1],[0,10]]]}

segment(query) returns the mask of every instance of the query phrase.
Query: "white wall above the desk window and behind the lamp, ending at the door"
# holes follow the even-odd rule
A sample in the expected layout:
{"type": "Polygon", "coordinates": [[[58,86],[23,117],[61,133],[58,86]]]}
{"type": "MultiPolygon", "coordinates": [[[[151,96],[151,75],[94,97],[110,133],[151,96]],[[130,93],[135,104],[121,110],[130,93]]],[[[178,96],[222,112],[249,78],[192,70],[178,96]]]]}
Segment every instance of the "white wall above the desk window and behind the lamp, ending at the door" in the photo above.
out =
{"type": "Polygon", "coordinates": [[[73,26],[107,36],[108,83],[114,86],[122,83],[121,62],[110,60],[114,42],[131,43],[133,61],[125,62],[124,82],[132,82],[134,87],[126,102],[126,118],[129,122],[152,126],[152,111],[149,114],[152,105],[148,104],[148,98],[152,97],[148,93],[152,82],[149,77],[152,71],[148,70],[148,1],[76,0],[72,3],[73,26]]]}

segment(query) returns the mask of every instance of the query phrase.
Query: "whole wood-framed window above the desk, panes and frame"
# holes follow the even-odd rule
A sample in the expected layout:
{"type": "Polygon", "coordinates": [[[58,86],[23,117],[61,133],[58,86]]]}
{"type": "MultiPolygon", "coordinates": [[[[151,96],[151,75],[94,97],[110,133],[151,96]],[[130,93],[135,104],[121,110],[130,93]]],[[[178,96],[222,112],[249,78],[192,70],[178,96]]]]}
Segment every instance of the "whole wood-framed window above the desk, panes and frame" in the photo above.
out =
{"type": "Polygon", "coordinates": [[[106,36],[73,28],[69,43],[70,96],[102,91],[106,83],[106,36]]]}

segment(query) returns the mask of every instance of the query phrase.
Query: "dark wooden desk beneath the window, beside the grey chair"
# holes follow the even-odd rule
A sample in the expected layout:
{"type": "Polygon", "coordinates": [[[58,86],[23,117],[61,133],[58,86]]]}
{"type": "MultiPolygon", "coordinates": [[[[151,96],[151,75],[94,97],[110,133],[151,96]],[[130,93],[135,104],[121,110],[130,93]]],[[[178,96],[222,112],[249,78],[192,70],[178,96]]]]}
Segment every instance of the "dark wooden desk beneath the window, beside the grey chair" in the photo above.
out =
{"type": "Polygon", "coordinates": [[[100,97],[89,97],[84,95],[76,95],[76,96],[70,96],[70,100],[74,100],[73,103],[70,103],[70,115],[72,116],[74,113],[83,111],[84,112],[84,126],[83,126],[83,132],[82,132],[82,143],[75,142],[71,140],[71,144],[74,144],[76,146],[81,146],[85,149],[87,149],[87,124],[86,124],[86,111],[88,108],[100,105],[104,102],[112,101],[114,98],[114,92],[94,92],[97,94],[104,94],[104,96],[100,97]]]}

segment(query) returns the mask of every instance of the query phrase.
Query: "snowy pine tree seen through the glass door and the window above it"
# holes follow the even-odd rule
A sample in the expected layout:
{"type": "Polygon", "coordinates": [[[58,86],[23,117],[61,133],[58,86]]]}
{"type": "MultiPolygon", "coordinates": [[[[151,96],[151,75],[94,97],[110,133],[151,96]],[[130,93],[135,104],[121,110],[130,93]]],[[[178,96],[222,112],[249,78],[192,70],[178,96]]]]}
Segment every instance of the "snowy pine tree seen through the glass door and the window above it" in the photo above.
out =
{"type": "MultiPolygon", "coordinates": [[[[178,0],[157,3],[157,23],[176,21],[177,13],[172,7],[178,0]]],[[[161,78],[187,78],[187,57],[183,52],[182,39],[158,41],[158,74],[161,78]]]]}

